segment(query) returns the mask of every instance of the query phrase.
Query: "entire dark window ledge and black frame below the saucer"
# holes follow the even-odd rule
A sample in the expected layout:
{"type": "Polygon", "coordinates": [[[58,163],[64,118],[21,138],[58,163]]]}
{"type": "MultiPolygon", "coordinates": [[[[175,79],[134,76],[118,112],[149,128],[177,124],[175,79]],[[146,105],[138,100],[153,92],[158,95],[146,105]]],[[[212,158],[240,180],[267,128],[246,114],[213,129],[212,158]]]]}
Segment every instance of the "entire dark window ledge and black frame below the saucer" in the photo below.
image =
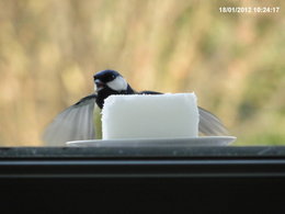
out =
{"type": "Polygon", "coordinates": [[[284,213],[285,147],[5,147],[0,190],[22,212],[284,213]]]}

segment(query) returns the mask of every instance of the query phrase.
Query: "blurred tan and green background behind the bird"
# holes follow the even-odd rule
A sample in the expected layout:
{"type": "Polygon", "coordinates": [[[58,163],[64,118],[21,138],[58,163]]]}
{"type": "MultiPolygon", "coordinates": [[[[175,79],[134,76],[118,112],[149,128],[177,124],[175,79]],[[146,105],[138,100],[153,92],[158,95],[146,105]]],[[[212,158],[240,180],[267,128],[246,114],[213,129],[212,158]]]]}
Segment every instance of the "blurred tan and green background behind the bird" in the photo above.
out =
{"type": "Polygon", "coordinates": [[[54,116],[115,69],[136,90],[195,91],[236,145],[285,144],[285,3],[0,0],[0,146],[41,146],[54,116]],[[219,7],[280,7],[220,13],[219,7]]]}

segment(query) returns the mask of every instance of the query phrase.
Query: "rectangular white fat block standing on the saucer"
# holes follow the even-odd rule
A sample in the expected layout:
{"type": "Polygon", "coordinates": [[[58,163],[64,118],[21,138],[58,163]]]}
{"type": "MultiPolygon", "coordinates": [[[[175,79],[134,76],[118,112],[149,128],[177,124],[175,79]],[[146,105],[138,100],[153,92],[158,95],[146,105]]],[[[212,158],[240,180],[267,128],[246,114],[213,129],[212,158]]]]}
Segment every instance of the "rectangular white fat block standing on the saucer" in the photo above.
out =
{"type": "Polygon", "coordinates": [[[194,93],[110,95],[102,110],[103,139],[198,135],[194,93]]]}

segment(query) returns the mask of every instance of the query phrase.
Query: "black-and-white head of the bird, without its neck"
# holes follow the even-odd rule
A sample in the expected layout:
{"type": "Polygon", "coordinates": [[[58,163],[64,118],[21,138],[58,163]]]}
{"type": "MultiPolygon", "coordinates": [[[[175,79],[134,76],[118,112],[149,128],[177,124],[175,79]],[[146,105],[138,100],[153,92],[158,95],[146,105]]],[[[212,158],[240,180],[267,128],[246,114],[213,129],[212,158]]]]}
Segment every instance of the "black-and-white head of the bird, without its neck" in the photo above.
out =
{"type": "Polygon", "coordinates": [[[127,90],[127,81],[115,70],[102,70],[94,75],[95,91],[112,90],[122,92],[127,90]]]}

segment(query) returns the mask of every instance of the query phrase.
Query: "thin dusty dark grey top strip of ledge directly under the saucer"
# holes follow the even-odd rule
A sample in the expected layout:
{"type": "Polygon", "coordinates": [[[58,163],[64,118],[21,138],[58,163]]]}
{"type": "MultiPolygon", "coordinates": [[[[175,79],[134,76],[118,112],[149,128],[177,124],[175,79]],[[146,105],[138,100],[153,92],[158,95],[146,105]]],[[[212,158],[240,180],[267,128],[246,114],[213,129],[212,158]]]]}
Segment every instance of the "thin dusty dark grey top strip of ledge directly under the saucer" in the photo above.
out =
{"type": "Polygon", "coordinates": [[[284,158],[285,146],[225,147],[0,147],[0,159],[35,158],[284,158]]]}

